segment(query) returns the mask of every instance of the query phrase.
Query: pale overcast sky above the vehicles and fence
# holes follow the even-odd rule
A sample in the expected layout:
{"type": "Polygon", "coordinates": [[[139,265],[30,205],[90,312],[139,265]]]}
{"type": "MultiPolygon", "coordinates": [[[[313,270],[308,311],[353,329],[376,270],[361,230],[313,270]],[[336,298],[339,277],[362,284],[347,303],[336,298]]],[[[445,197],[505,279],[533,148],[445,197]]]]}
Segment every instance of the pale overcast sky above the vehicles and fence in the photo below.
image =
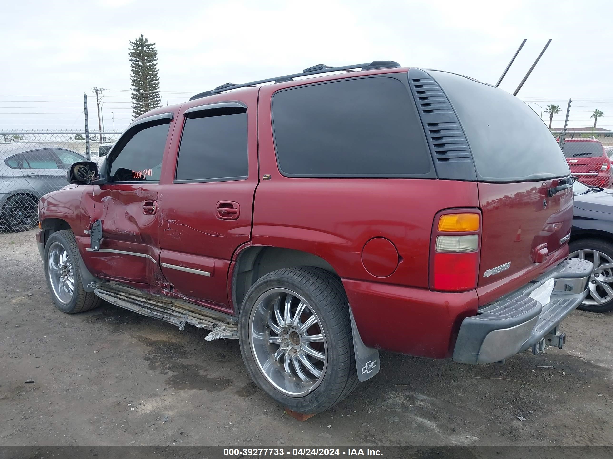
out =
{"type": "MultiPolygon", "coordinates": [[[[0,129],[82,127],[83,92],[105,92],[105,128],[129,124],[129,40],[157,43],[162,101],[314,64],[390,59],[496,83],[513,92],[547,39],[519,96],[575,102],[570,125],[613,129],[613,2],[523,1],[10,1],[0,16],[0,129]],[[52,96],[52,97],[51,97],[52,96]],[[113,112],[111,114],[110,112],[113,112]]],[[[97,124],[95,110],[89,110],[97,124]]],[[[546,115],[545,115],[546,116],[546,115]]],[[[563,124],[563,113],[554,125],[563,124]]]]}

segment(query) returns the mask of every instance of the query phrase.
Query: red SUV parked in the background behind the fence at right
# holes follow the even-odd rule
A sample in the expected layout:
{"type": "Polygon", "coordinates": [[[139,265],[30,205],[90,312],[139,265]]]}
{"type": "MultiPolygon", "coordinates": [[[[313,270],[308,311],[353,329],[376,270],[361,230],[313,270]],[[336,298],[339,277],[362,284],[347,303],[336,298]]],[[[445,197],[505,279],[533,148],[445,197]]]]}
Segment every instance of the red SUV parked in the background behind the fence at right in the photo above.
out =
{"type": "Polygon", "coordinates": [[[611,188],[613,176],[611,159],[600,140],[579,138],[566,139],[562,152],[577,180],[593,187],[611,188]]]}

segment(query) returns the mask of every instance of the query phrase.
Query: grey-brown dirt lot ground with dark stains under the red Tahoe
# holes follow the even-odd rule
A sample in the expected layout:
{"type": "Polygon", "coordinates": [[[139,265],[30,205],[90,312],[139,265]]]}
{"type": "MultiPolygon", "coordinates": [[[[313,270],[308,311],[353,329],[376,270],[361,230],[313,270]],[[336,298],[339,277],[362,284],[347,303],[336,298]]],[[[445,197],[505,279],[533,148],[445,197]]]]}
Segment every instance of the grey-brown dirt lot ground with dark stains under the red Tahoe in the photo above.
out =
{"type": "Polygon", "coordinates": [[[612,314],[574,312],[564,350],[506,365],[383,353],[378,376],[300,423],[251,383],[237,341],[112,305],[59,312],[33,231],[0,234],[0,259],[4,446],[613,444],[612,314]]]}

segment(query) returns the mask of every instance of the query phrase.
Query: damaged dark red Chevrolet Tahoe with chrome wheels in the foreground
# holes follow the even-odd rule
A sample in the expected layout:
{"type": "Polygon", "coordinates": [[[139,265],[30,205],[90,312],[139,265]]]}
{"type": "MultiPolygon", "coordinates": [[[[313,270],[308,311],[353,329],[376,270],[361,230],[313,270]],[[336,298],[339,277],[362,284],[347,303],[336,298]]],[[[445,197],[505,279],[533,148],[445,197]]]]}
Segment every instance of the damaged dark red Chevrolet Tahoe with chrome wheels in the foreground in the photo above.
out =
{"type": "Polygon", "coordinates": [[[238,338],[255,383],[304,413],[375,375],[379,349],[562,348],[592,271],[567,259],[573,180],[538,115],[393,61],[224,84],[67,179],[37,234],[60,310],[105,300],[238,338]]]}

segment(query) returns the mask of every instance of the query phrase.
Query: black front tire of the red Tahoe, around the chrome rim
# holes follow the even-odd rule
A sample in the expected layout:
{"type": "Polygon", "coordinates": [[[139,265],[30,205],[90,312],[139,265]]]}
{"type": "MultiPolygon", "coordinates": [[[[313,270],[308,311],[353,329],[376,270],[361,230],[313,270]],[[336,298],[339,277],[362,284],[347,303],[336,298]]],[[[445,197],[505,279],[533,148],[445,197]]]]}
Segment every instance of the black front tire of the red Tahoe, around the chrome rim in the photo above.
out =
{"type": "Polygon", "coordinates": [[[80,265],[78,260],[78,248],[77,241],[72,230],[61,230],[51,234],[49,239],[45,242],[45,278],[47,279],[47,286],[53,303],[61,311],[67,314],[76,314],[78,312],[88,311],[90,309],[98,307],[102,300],[96,296],[94,292],[87,292],[83,289],[83,283],[81,282],[80,265]],[[60,244],[70,259],[72,264],[72,275],[74,280],[74,292],[72,299],[67,304],[61,302],[55,294],[53,287],[51,286],[51,278],[49,275],[49,253],[50,248],[54,244],[60,244]]]}

